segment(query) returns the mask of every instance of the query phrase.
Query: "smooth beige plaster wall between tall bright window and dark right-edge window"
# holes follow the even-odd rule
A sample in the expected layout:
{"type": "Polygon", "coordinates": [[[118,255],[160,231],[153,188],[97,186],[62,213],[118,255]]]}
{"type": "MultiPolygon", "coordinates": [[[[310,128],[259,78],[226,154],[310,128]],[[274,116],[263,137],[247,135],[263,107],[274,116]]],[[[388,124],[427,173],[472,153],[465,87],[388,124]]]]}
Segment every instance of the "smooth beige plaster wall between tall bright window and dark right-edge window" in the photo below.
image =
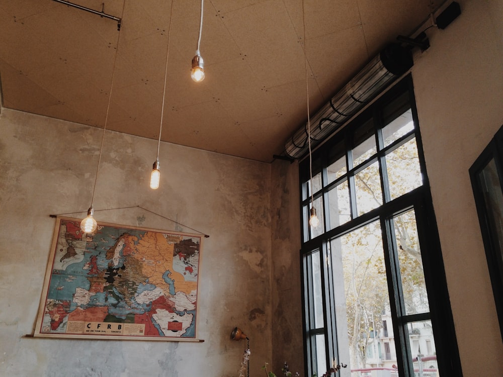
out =
{"type": "Polygon", "coordinates": [[[459,1],[412,78],[463,375],[501,375],[503,343],[468,169],[503,125],[503,2],[459,1]]]}

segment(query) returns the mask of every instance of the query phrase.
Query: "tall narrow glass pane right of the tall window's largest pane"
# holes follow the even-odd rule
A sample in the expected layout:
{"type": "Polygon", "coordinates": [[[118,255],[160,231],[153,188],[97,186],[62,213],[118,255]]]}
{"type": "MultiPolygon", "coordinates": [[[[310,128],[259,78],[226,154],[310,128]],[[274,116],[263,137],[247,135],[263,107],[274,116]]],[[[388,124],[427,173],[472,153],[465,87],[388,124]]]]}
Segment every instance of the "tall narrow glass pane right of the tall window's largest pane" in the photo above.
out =
{"type": "Polygon", "coordinates": [[[430,305],[414,211],[393,218],[393,226],[395,244],[398,248],[405,314],[428,313],[430,305]]]}

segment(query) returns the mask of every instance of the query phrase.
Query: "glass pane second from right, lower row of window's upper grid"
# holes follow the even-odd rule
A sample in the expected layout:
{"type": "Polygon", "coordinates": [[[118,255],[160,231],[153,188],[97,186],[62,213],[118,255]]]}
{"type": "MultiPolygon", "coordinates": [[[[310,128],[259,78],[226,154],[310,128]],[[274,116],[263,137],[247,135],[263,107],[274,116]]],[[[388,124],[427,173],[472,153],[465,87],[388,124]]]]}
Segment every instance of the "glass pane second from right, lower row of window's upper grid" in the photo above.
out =
{"type": "Polygon", "coordinates": [[[355,175],[358,216],[382,205],[379,163],[376,161],[355,175]]]}

